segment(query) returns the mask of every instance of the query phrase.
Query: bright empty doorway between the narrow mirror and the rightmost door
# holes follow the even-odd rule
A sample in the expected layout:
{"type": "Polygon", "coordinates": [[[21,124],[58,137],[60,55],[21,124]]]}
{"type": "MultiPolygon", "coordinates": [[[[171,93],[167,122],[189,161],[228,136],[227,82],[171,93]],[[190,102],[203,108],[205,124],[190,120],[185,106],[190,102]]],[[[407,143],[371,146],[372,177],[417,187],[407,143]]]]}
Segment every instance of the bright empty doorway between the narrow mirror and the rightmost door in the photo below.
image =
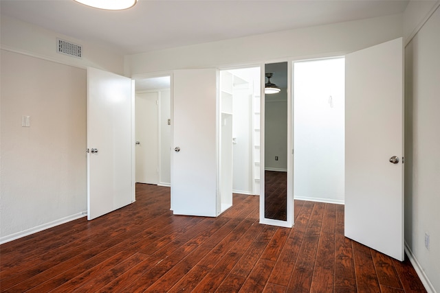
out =
{"type": "Polygon", "coordinates": [[[294,198],[344,203],[345,58],[294,62],[294,198]]]}

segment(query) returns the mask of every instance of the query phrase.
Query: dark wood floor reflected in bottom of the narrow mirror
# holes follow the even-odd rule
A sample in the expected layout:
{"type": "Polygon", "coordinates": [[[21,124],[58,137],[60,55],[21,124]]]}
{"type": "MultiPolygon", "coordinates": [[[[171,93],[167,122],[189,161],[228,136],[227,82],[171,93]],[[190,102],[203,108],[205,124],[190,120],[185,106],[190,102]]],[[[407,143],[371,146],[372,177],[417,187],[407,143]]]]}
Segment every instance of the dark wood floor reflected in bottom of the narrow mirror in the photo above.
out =
{"type": "Polygon", "coordinates": [[[265,171],[265,218],[287,220],[287,172],[265,171]]]}

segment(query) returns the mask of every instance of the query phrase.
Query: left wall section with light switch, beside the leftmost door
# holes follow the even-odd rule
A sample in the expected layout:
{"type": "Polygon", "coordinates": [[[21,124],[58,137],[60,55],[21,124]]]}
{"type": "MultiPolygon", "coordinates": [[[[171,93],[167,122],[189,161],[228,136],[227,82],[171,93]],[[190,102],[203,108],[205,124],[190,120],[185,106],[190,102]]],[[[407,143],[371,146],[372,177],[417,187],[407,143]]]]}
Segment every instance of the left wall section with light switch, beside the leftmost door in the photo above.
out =
{"type": "Polygon", "coordinates": [[[0,242],[87,210],[86,82],[85,69],[1,50],[0,242]]]}

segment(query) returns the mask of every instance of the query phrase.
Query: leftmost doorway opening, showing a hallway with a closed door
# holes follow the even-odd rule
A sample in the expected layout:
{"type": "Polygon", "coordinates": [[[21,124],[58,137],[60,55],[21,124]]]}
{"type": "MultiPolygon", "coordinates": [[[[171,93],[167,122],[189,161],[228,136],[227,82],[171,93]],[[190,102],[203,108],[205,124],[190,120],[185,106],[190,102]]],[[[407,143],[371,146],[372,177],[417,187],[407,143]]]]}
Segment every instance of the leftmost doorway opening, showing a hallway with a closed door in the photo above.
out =
{"type": "Polygon", "coordinates": [[[170,186],[170,76],[135,79],[135,182],[170,186]]]}

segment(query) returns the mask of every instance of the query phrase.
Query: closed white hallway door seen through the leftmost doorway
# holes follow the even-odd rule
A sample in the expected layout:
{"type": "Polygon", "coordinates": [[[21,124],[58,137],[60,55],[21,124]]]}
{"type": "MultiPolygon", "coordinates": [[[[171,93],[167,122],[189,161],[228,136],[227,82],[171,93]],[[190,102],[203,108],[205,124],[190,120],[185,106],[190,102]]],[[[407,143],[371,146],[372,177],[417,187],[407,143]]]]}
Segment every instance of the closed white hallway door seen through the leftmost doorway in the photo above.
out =
{"type": "Polygon", "coordinates": [[[158,93],[137,93],[135,97],[136,131],[136,182],[157,184],[158,141],[157,99],[158,93]]]}

